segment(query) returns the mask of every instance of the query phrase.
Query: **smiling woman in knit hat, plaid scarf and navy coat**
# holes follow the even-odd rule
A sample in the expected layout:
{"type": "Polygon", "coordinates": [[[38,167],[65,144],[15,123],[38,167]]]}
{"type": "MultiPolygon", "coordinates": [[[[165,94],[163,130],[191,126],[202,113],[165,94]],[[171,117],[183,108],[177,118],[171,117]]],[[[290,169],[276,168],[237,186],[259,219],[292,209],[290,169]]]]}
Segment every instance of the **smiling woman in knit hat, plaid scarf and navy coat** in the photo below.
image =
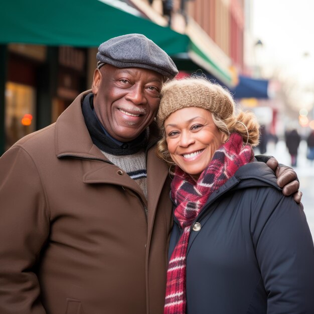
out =
{"type": "Polygon", "coordinates": [[[201,78],[167,83],[157,115],[172,171],[165,313],[314,313],[305,215],[254,162],[259,125],[201,78]]]}

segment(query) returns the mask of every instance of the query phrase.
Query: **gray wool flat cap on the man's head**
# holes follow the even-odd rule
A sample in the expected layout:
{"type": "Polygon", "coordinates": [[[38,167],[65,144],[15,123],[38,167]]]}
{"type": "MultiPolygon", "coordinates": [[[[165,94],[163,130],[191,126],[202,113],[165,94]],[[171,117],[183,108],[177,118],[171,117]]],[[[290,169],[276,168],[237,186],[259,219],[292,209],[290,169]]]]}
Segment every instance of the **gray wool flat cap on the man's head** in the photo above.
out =
{"type": "Polygon", "coordinates": [[[174,78],[178,69],[167,53],[141,34],[127,34],[102,43],[96,56],[98,69],[108,63],[117,68],[143,68],[174,78]]]}

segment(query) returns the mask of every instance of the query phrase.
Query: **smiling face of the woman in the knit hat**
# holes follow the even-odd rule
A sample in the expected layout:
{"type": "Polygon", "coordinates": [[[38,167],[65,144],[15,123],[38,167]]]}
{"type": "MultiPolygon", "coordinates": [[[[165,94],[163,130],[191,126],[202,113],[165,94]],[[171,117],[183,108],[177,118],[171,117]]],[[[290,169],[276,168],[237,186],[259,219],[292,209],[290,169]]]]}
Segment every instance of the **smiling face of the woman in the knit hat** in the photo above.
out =
{"type": "Polygon", "coordinates": [[[173,161],[198,178],[209,165],[225,135],[215,125],[210,111],[186,107],[165,120],[166,141],[173,161]]]}

